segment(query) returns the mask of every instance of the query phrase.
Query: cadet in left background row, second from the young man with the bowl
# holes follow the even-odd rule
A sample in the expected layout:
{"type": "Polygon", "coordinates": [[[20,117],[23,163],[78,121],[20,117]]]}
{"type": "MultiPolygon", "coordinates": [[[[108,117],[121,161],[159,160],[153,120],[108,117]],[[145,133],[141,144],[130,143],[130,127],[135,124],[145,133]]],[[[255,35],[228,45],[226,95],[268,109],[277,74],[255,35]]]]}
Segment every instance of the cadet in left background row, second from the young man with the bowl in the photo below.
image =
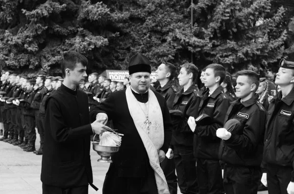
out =
{"type": "MultiPolygon", "coordinates": [[[[46,100],[49,98],[49,96],[54,92],[53,87],[51,86],[51,79],[52,76],[47,76],[45,79],[44,86],[47,88],[45,90],[45,93],[42,96],[40,109],[39,109],[39,120],[38,120],[38,132],[40,134],[40,137],[42,136],[42,140],[40,141],[40,148],[37,151],[34,151],[36,155],[42,155],[43,154],[43,146],[44,146],[44,122],[45,122],[45,103],[46,100]],[[40,129],[39,129],[40,128],[40,129]]],[[[41,138],[40,138],[41,139],[41,138]]]]}

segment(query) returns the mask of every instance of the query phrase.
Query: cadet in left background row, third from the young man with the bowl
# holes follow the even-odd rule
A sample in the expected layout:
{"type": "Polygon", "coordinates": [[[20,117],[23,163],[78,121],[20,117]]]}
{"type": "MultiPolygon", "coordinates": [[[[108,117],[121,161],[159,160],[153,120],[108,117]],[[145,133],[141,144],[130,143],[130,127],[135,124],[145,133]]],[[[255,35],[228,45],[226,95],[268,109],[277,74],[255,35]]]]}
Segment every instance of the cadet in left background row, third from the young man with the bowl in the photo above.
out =
{"type": "MultiPolygon", "coordinates": [[[[34,91],[35,95],[31,103],[31,108],[35,110],[35,119],[37,123],[38,133],[40,135],[40,145],[44,144],[44,130],[42,126],[41,117],[39,115],[39,110],[40,110],[42,96],[48,91],[48,89],[44,86],[45,79],[46,79],[45,75],[38,75],[36,79],[36,85],[38,85],[38,88],[35,89],[34,91]]],[[[35,141],[31,141],[31,143],[35,143],[35,141]]],[[[33,148],[34,149],[31,149],[31,151],[35,151],[35,145],[33,145],[33,148]]]]}

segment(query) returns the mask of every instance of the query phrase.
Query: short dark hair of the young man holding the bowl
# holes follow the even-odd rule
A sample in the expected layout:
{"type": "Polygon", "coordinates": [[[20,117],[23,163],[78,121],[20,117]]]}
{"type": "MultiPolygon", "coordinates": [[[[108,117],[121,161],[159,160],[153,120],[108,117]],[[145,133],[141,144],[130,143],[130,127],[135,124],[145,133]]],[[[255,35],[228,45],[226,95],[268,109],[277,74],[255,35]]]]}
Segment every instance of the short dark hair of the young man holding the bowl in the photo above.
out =
{"type": "Polygon", "coordinates": [[[87,66],[88,60],[85,56],[74,51],[64,53],[63,60],[60,63],[63,76],[66,76],[65,69],[69,68],[73,70],[77,63],[81,63],[83,66],[87,66]]]}

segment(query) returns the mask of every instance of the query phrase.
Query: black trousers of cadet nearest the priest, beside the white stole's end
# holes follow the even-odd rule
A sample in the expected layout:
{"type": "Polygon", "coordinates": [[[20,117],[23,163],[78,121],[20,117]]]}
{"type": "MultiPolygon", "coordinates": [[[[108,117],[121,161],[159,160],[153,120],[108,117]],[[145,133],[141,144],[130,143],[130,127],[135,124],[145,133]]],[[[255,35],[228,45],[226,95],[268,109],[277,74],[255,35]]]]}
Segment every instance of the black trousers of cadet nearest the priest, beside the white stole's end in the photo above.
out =
{"type": "Polygon", "coordinates": [[[174,159],[165,158],[161,163],[161,168],[167,179],[167,183],[171,194],[177,194],[177,178],[175,175],[174,159]]]}

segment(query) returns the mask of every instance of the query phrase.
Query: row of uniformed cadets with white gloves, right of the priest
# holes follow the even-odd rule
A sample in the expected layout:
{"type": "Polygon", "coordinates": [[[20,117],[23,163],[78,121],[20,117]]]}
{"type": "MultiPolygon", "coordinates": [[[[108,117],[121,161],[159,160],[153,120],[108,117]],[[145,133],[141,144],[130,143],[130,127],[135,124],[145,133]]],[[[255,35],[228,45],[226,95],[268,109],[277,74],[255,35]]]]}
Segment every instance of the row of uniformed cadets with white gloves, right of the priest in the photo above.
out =
{"type": "Polygon", "coordinates": [[[237,72],[235,96],[222,65],[202,71],[200,91],[194,84],[195,65],[181,66],[179,91],[172,84],[175,67],[158,67],[156,91],[165,97],[173,121],[170,149],[162,163],[171,194],[177,183],[183,194],[257,194],[262,172],[268,172],[262,180],[268,182],[269,194],[294,192],[291,64],[280,62],[275,84],[281,91],[270,98],[268,82],[253,71],[237,72]]]}

